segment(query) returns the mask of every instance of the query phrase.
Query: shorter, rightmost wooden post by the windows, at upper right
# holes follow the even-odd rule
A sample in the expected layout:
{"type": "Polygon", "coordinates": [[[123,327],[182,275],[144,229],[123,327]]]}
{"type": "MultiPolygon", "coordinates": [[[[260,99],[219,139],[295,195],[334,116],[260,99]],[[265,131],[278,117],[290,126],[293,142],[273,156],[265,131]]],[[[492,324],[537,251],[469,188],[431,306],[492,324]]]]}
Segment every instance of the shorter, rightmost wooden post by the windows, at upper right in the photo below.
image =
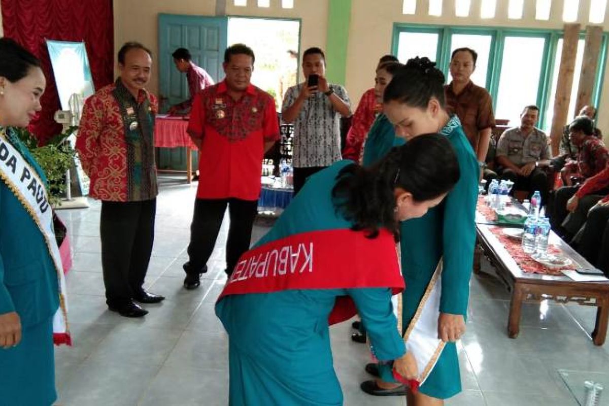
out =
{"type": "Polygon", "coordinates": [[[579,77],[579,87],[577,88],[576,113],[592,102],[602,39],[603,27],[586,27],[586,46],[583,51],[582,74],[579,77]]]}

